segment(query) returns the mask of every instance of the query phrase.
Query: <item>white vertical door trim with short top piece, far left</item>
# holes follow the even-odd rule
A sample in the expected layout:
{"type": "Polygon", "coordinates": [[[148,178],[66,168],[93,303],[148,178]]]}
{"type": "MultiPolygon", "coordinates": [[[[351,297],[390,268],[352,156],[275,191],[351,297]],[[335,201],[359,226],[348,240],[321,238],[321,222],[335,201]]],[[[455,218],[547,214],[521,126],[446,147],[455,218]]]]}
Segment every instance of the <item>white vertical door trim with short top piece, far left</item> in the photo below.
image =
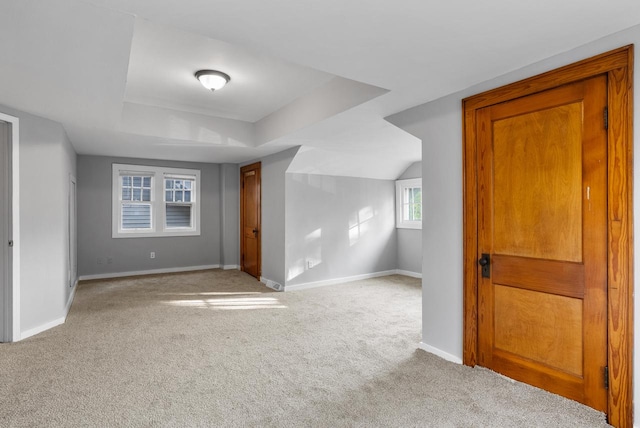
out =
{"type": "Polygon", "coordinates": [[[13,223],[11,341],[17,342],[22,338],[20,335],[20,119],[0,113],[0,120],[11,124],[11,222],[13,223]]]}

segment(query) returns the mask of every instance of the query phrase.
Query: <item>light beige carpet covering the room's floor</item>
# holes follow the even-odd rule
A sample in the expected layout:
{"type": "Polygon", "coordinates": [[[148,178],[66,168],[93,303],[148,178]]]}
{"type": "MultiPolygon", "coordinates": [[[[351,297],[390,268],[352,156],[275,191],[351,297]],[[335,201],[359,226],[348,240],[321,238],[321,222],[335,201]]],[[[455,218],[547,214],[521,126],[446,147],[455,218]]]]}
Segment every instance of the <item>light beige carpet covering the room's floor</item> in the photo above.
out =
{"type": "Polygon", "coordinates": [[[79,285],[0,345],[0,426],[598,427],[604,415],[416,350],[420,281],[276,293],[238,271],[79,285]]]}

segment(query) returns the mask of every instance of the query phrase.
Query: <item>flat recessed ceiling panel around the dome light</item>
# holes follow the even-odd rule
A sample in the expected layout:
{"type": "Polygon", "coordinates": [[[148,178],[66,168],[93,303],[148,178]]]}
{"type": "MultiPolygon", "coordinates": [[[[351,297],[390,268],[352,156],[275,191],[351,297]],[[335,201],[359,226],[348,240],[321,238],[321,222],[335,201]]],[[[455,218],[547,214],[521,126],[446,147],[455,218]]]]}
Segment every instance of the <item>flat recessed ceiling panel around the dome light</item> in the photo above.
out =
{"type": "Polygon", "coordinates": [[[138,19],[125,101],[256,122],[332,77],[259,51],[138,19]],[[203,90],[194,78],[202,69],[224,71],[231,81],[215,93],[203,90]]]}

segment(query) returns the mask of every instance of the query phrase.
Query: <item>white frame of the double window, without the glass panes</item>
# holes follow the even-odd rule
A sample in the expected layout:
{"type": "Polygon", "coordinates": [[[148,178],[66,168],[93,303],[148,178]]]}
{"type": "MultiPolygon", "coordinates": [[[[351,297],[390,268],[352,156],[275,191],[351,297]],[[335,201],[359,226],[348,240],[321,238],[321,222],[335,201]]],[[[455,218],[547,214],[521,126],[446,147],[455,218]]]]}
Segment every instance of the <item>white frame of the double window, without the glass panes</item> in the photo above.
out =
{"type": "MultiPolygon", "coordinates": [[[[111,196],[111,236],[113,238],[150,238],[167,236],[200,235],[200,170],[169,168],[161,166],[126,165],[114,163],[112,166],[111,196]],[[122,229],[122,180],[126,175],[151,176],[151,228],[122,229]],[[166,227],[166,203],[164,200],[164,177],[184,177],[194,180],[192,192],[192,226],[166,227]]],[[[126,201],[125,201],[126,202],[126,201]]]]}

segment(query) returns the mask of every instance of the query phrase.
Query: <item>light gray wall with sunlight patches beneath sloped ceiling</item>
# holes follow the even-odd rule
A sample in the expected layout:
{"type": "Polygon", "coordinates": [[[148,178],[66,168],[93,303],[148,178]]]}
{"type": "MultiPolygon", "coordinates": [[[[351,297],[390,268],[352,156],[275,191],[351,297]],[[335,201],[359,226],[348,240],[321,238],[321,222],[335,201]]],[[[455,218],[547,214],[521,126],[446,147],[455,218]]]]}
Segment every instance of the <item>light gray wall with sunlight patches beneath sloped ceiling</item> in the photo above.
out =
{"type": "Polygon", "coordinates": [[[393,180],[287,174],[286,285],[396,269],[394,195],[393,180]]]}

